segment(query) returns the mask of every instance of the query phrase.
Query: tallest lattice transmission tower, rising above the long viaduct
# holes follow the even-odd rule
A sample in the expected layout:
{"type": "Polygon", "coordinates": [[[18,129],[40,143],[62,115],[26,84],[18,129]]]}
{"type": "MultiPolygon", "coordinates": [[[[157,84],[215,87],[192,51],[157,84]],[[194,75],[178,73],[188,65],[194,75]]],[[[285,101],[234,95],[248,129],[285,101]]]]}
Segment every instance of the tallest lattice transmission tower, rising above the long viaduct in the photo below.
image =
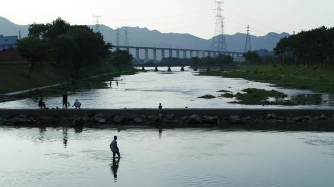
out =
{"type": "Polygon", "coordinates": [[[218,55],[222,52],[227,52],[226,47],[226,40],[225,40],[225,32],[224,32],[224,17],[222,16],[223,11],[223,1],[215,1],[217,4],[217,8],[215,11],[217,11],[216,17],[216,27],[214,30],[214,36],[212,38],[212,51],[218,51],[218,55]]]}

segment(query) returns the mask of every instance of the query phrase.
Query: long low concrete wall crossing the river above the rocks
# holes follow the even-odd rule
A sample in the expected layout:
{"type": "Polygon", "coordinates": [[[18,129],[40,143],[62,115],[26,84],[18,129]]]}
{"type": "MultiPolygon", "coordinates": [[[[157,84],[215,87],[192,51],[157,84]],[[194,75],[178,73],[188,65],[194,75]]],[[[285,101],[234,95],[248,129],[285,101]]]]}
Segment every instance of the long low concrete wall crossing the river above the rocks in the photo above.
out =
{"type": "MultiPolygon", "coordinates": [[[[84,115],[89,113],[104,113],[104,114],[124,114],[127,112],[131,115],[151,115],[157,114],[157,109],[0,109],[0,115],[29,115],[34,116],[52,116],[54,113],[61,116],[69,115],[84,115]]],[[[334,115],[334,109],[164,109],[164,114],[170,113],[175,116],[190,116],[192,114],[226,117],[230,115],[239,115],[241,117],[251,116],[253,114],[266,115],[275,113],[278,116],[327,116],[334,115]]]]}

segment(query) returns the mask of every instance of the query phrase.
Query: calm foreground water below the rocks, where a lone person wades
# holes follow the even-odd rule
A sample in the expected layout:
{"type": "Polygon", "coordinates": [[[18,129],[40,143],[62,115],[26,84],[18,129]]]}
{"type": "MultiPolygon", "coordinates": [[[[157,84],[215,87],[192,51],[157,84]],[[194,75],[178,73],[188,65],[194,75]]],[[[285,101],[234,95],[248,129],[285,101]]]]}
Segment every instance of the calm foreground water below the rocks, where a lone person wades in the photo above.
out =
{"type": "Polygon", "coordinates": [[[333,187],[334,133],[0,127],[1,187],[333,187]],[[121,158],[109,149],[118,136],[121,158]]]}

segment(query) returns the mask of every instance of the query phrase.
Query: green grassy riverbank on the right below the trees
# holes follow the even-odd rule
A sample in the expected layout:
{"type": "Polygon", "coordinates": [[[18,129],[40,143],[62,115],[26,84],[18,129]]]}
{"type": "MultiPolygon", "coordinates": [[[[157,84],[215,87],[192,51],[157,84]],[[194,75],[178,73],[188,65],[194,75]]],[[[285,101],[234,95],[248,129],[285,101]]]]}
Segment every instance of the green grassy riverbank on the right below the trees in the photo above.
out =
{"type": "Polygon", "coordinates": [[[221,71],[205,71],[200,75],[244,78],[247,80],[269,82],[278,87],[312,90],[320,93],[334,93],[334,70],[309,67],[297,74],[290,75],[301,67],[242,65],[230,73],[221,71]]]}

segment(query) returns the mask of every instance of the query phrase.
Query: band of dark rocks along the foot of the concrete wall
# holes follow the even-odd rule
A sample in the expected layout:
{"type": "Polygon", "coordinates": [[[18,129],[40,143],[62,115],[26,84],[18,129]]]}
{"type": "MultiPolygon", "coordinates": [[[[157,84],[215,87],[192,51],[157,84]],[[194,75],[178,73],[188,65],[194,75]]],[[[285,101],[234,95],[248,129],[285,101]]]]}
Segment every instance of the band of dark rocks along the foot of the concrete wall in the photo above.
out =
{"type": "Polygon", "coordinates": [[[154,127],[217,127],[222,129],[242,128],[250,130],[292,130],[292,131],[334,131],[334,114],[326,116],[278,116],[274,113],[266,115],[253,114],[247,117],[230,115],[226,117],[200,116],[176,116],[164,115],[130,115],[89,113],[82,116],[69,115],[62,117],[53,113],[52,116],[33,115],[7,115],[0,116],[0,124],[8,126],[34,127],[34,126],[68,126],[68,127],[92,127],[108,125],[147,125],[154,127]]]}

